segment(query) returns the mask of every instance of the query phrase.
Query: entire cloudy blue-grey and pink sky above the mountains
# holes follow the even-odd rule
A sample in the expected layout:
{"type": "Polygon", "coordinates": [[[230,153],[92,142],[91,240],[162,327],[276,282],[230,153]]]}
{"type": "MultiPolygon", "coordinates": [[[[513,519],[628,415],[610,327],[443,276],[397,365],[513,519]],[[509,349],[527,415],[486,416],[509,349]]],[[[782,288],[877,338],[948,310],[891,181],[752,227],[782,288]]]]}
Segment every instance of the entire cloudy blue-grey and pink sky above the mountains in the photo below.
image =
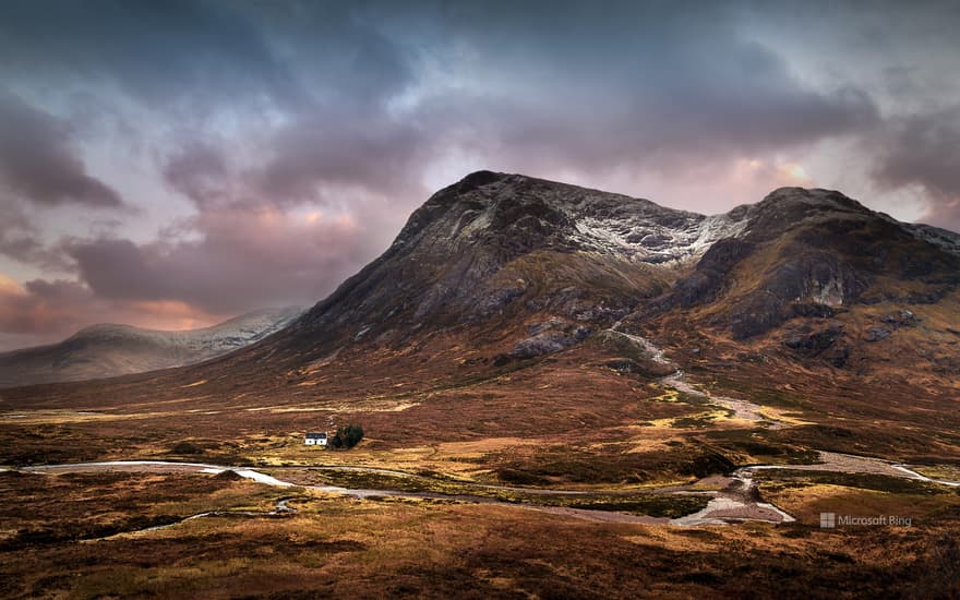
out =
{"type": "Polygon", "coordinates": [[[491,169],[960,231],[960,2],[4,0],[0,350],[311,305],[491,169]]]}

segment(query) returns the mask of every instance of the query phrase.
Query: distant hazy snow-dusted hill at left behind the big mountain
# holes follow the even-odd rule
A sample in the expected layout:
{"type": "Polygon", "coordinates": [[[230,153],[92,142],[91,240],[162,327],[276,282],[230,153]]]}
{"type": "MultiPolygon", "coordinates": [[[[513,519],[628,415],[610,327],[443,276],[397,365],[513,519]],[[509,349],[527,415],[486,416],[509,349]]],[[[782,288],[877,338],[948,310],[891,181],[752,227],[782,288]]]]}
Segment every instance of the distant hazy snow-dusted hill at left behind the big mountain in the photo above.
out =
{"type": "Polygon", "coordinates": [[[293,307],[267,309],[212,327],[180,332],[93,325],[59,344],[0,353],[0,387],[109,377],[191,364],[261,340],[302,312],[293,307]]]}

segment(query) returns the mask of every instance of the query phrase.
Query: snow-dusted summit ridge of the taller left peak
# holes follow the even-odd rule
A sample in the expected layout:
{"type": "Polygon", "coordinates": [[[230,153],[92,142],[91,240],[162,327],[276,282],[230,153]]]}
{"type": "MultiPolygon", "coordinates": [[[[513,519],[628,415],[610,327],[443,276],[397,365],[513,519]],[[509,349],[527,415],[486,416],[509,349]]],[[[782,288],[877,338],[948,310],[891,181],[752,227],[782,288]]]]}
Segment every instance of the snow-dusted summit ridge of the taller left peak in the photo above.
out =
{"type": "Polygon", "coordinates": [[[743,231],[743,215],[707,217],[632,197],[523,175],[477,171],[434,194],[397,239],[429,229],[447,245],[511,238],[527,249],[611,254],[651,264],[685,262],[743,231]],[[440,225],[442,224],[442,225],[440,225]]]}

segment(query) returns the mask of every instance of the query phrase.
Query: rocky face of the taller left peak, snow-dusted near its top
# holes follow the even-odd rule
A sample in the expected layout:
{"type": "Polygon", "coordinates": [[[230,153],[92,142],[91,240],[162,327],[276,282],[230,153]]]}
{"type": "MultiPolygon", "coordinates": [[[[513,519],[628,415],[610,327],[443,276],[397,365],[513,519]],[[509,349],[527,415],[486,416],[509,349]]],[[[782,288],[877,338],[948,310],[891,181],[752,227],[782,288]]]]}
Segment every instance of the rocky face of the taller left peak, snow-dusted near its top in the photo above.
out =
{"type": "Polygon", "coordinates": [[[441,190],[394,244],[298,323],[329,339],[399,341],[424,327],[549,313],[612,321],[745,221],[517,175],[441,190]],[[323,335],[322,335],[323,333],[323,335]]]}

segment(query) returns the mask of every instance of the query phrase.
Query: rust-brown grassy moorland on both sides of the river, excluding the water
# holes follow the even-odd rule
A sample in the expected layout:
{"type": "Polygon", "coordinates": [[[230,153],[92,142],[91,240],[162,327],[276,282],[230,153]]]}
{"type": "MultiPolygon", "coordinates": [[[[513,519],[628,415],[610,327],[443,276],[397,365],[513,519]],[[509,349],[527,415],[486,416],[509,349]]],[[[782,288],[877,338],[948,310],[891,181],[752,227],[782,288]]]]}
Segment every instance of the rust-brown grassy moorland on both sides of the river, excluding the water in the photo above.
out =
{"type": "MultiPolygon", "coordinates": [[[[493,349],[447,333],[405,356],[361,360],[347,349],[305,371],[236,372],[228,357],[214,362],[219,372],[2,391],[0,464],[359,465],[432,481],[629,492],[831,451],[957,479],[949,383],[895,368],[877,381],[825,371],[683,326],[639,333],[682,362],[689,385],[758,405],[766,422],[659,375],[611,369],[619,357],[602,347],[495,365],[493,349]],[[700,352],[684,353],[692,348],[700,352]],[[302,445],[303,432],[348,422],[367,431],[357,448],[302,445]]],[[[133,535],[122,531],[207,509],[268,512],[289,490],[197,475],[0,477],[10,597],[960,595],[957,490],[876,473],[758,471],[763,500],[797,519],[780,526],[684,529],[297,490],[296,515],[212,516],[133,535]],[[821,530],[821,512],[905,515],[911,526],[821,530]]]]}

